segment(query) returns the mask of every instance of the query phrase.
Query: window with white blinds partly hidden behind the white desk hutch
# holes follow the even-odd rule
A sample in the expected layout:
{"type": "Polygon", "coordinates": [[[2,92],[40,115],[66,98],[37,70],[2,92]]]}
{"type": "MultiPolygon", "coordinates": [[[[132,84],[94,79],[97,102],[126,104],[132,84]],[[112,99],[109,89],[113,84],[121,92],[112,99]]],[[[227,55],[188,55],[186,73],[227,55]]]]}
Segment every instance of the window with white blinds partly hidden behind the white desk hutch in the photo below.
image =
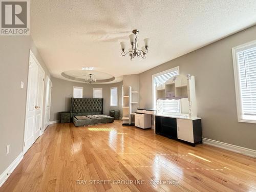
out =
{"type": "Polygon", "coordinates": [[[157,74],[152,75],[152,90],[153,90],[153,108],[157,109],[159,113],[180,113],[180,100],[158,100],[156,103],[156,84],[164,83],[169,78],[180,74],[180,68],[175,67],[157,74]],[[158,105],[157,105],[158,104],[158,105]]]}

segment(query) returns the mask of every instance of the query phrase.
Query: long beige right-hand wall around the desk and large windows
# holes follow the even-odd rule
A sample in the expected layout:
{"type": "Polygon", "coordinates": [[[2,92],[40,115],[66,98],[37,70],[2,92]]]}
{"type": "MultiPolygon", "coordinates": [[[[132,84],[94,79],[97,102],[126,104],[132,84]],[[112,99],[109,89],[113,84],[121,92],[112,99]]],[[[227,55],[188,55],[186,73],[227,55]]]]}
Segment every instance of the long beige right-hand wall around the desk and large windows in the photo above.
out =
{"type": "MultiPolygon", "coordinates": [[[[152,75],[180,66],[195,75],[203,137],[256,150],[256,124],[238,122],[231,48],[256,39],[256,26],[139,75],[140,106],[152,108],[152,75]]],[[[170,50],[172,51],[172,50],[170,50]]]]}

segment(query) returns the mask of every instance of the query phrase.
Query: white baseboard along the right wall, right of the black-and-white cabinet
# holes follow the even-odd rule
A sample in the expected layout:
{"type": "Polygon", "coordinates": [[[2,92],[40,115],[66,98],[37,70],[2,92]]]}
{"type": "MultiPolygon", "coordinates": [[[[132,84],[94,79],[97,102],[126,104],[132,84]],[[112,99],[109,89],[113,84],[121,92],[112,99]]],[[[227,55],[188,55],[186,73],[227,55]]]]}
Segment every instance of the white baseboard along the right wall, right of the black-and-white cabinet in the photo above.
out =
{"type": "Polygon", "coordinates": [[[224,143],[224,142],[220,142],[220,141],[216,141],[216,140],[212,140],[212,139],[207,139],[207,138],[203,138],[203,143],[212,145],[212,146],[216,146],[219,148],[223,148],[224,150],[228,150],[231,152],[243,154],[246,156],[250,156],[250,157],[254,157],[254,158],[256,157],[256,150],[251,150],[250,148],[232,145],[232,144],[228,144],[228,143],[224,143]]]}

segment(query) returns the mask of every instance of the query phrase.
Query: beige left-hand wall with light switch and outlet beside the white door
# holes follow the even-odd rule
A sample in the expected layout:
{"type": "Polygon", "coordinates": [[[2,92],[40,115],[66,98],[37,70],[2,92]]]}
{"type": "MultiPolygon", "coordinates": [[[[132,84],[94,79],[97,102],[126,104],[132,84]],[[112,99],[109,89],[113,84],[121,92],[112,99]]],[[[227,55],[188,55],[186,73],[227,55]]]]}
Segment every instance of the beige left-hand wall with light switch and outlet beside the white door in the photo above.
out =
{"type": "MultiPolygon", "coordinates": [[[[23,151],[30,49],[49,75],[30,36],[0,36],[0,175],[23,151]],[[24,89],[20,89],[20,81],[24,89]],[[10,153],[6,155],[8,144],[10,153]]],[[[42,118],[44,121],[44,112],[42,118]]]]}

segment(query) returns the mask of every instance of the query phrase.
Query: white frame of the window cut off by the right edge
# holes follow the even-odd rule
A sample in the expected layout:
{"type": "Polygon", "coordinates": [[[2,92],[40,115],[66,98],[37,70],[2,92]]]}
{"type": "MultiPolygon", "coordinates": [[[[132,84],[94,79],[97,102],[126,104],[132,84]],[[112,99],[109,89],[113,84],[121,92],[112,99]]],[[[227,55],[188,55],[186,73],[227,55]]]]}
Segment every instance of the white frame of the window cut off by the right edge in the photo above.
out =
{"type": "Polygon", "coordinates": [[[245,123],[256,123],[256,120],[244,119],[243,118],[243,110],[242,110],[242,96],[241,96],[241,86],[240,86],[240,74],[239,74],[239,66],[238,66],[238,58],[237,53],[250,49],[252,47],[256,47],[256,40],[247,42],[245,44],[236,46],[232,48],[232,58],[233,58],[233,72],[234,72],[234,87],[236,91],[236,103],[237,103],[237,115],[238,122],[245,123]]]}

